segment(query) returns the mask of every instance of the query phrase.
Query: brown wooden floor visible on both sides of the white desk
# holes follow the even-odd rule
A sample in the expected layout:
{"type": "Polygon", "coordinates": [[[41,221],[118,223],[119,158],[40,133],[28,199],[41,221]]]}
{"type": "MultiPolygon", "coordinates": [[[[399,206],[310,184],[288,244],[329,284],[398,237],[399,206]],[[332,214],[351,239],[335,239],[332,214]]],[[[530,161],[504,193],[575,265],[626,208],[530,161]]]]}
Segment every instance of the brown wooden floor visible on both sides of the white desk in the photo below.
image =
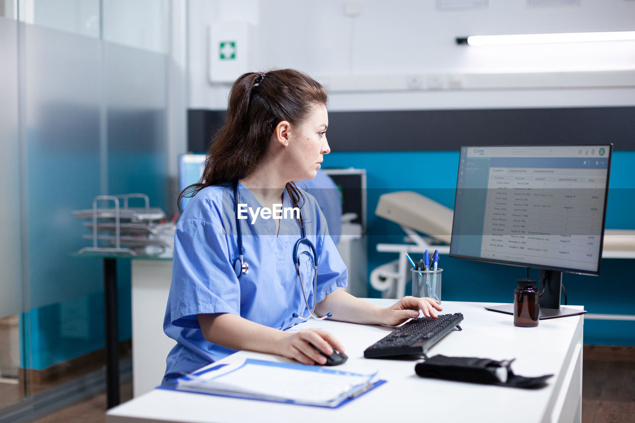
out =
{"type": "MultiPolygon", "coordinates": [[[[635,347],[584,346],[582,422],[635,423],[635,347]]],[[[132,398],[132,382],[121,386],[121,401],[132,398]]],[[[105,393],[50,413],[36,423],[105,422],[105,393]]]]}

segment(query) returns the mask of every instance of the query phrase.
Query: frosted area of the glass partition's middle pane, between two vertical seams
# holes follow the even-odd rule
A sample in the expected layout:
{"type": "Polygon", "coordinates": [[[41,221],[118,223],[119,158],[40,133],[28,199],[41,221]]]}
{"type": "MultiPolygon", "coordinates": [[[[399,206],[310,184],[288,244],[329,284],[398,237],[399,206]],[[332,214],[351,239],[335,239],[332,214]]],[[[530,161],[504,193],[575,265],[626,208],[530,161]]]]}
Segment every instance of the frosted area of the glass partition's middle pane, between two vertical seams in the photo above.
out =
{"type": "MultiPolygon", "coordinates": [[[[29,337],[27,393],[55,386],[56,366],[103,347],[99,260],[70,257],[86,241],[72,210],[100,194],[101,42],[24,27],[29,337]]],[[[74,370],[70,369],[70,370],[74,370]]],[[[84,371],[77,368],[76,376],[84,371]]]]}

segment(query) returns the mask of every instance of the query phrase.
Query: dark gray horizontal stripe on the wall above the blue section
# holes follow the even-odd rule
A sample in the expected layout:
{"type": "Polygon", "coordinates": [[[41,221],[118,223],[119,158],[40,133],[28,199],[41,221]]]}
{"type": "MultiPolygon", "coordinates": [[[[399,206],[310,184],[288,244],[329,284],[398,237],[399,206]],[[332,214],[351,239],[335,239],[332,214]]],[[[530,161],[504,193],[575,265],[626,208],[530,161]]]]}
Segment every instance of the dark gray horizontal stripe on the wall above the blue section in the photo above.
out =
{"type": "MultiPolygon", "coordinates": [[[[206,151],[225,111],[188,111],[189,151],[206,151]]],[[[329,112],[333,151],[458,150],[462,145],[600,144],[635,150],[635,107],[329,112]]]]}

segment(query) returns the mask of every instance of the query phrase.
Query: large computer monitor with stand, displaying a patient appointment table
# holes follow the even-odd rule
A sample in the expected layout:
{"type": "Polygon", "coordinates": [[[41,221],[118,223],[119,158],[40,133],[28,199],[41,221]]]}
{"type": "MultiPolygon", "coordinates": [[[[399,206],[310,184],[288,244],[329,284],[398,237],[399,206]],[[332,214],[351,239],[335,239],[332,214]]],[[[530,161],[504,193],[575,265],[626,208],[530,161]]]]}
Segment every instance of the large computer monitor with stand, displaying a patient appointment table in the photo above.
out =
{"type": "Polygon", "coordinates": [[[612,150],[461,147],[450,257],[540,269],[540,318],[581,314],[560,307],[562,272],[599,275],[612,150]]]}

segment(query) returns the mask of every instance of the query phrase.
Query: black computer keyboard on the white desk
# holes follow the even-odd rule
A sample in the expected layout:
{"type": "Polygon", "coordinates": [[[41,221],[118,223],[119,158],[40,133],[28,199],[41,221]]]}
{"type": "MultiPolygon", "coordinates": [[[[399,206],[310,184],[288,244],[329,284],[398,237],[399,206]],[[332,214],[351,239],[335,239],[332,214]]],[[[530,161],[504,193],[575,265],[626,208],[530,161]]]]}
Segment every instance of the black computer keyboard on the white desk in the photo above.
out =
{"type": "Polygon", "coordinates": [[[375,344],[366,348],[366,358],[396,358],[403,356],[421,356],[441,338],[445,337],[459,323],[463,314],[439,314],[438,318],[417,318],[392,331],[375,344]]]}

